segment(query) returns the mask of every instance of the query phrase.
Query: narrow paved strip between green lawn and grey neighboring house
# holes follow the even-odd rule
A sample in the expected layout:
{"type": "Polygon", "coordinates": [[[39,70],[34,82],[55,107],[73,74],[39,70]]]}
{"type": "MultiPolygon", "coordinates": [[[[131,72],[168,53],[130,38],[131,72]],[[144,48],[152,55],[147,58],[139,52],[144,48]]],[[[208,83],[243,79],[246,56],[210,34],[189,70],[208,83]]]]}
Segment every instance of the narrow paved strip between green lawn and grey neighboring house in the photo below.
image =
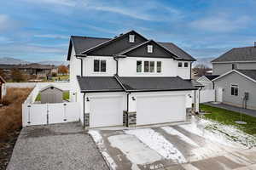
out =
{"type": "Polygon", "coordinates": [[[249,109],[243,109],[243,108],[236,107],[236,106],[233,106],[233,105],[212,104],[212,103],[205,103],[204,105],[210,105],[212,107],[218,107],[218,108],[225,109],[225,110],[228,110],[228,111],[236,111],[238,113],[243,113],[243,114],[246,114],[246,115],[249,115],[249,116],[256,116],[256,111],[249,110],[249,109]]]}

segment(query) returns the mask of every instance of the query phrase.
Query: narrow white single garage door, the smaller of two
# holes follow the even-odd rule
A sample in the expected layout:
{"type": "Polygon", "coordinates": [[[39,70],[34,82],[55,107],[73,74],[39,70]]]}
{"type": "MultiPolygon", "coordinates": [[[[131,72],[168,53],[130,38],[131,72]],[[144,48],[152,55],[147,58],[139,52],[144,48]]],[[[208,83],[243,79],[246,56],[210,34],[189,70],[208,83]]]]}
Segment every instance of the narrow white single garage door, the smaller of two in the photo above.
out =
{"type": "Polygon", "coordinates": [[[123,125],[123,97],[91,98],[90,127],[123,125]]]}

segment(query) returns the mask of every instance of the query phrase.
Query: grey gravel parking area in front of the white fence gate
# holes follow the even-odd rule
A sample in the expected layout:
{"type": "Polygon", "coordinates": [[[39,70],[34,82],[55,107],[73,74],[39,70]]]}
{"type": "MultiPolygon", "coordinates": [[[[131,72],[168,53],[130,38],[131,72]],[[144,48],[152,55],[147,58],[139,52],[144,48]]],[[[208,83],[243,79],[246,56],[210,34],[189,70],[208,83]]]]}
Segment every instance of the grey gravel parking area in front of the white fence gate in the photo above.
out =
{"type": "Polygon", "coordinates": [[[78,122],[25,127],[8,170],[108,169],[89,134],[78,122]]]}

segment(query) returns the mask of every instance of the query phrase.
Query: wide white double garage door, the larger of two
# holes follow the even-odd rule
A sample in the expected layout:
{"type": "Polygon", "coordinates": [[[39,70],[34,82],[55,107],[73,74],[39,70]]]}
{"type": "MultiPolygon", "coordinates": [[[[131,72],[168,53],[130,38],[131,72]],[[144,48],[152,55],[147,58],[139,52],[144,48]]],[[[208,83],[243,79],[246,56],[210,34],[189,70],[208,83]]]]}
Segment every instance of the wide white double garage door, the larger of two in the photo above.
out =
{"type": "Polygon", "coordinates": [[[185,95],[137,98],[137,125],[185,121],[185,95]]]}

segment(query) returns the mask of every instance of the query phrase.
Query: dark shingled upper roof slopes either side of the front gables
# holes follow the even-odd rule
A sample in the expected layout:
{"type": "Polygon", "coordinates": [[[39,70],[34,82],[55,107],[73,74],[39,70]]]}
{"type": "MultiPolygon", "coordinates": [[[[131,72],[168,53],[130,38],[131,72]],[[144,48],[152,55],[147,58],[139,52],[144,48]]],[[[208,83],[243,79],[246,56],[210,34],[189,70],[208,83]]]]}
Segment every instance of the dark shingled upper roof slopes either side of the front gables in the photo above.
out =
{"type": "MultiPolygon", "coordinates": [[[[73,48],[76,52],[76,54],[81,54],[82,52],[94,48],[97,45],[100,45],[104,42],[108,42],[110,40],[113,40],[114,38],[101,38],[101,37],[79,37],[79,36],[72,36],[71,42],[73,45],[73,48]]],[[[183,49],[178,48],[175,44],[172,42],[158,42],[160,45],[162,45],[164,48],[169,50],[172,54],[177,55],[177,57],[181,59],[187,59],[187,60],[195,60],[191,55],[187,54],[183,49]]],[[[71,47],[71,46],[70,46],[71,47]]],[[[70,59],[70,50],[68,52],[67,60],[70,59]]]]}

